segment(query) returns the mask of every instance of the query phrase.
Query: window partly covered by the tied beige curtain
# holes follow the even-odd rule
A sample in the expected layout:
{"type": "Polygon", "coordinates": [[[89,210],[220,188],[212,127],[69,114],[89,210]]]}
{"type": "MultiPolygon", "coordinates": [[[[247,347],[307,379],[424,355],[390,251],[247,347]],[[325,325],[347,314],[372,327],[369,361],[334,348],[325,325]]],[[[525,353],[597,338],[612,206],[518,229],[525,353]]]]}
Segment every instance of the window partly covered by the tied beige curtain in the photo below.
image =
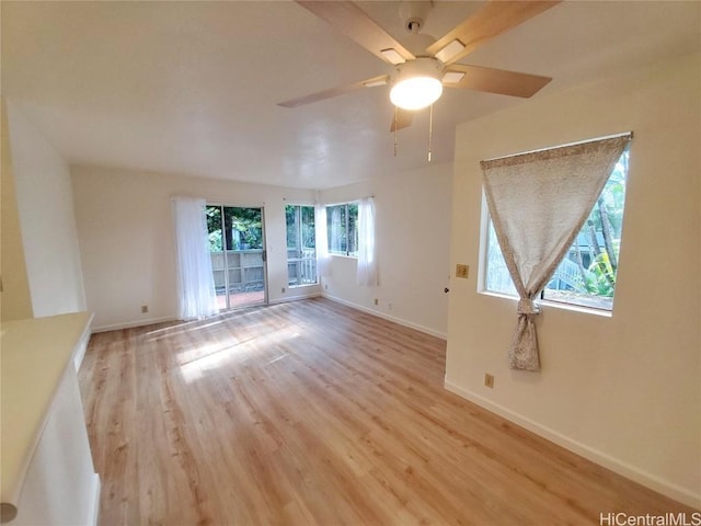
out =
{"type": "MultiPolygon", "coordinates": [[[[611,310],[619,251],[629,150],[609,176],[588,219],[541,293],[541,299],[611,310]]],[[[489,221],[484,289],[518,296],[509,276],[492,221],[489,221]]]]}

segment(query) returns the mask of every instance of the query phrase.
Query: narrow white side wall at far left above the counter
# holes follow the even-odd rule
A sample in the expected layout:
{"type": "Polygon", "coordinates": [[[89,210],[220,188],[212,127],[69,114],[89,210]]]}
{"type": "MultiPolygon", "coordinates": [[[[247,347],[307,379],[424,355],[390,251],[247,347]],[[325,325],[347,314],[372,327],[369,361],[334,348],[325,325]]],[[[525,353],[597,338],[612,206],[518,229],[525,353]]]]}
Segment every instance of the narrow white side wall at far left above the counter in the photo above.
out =
{"type": "Polygon", "coordinates": [[[84,310],[68,164],[11,101],[8,124],[34,317],[84,310]]]}

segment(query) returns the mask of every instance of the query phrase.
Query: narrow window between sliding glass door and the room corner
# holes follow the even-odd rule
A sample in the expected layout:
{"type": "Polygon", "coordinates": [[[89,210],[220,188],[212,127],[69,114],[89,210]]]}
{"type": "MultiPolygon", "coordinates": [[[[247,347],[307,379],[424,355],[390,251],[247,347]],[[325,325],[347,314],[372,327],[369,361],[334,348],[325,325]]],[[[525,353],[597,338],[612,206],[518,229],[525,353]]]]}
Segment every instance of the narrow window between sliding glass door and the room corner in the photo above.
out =
{"type": "Polygon", "coordinates": [[[317,283],[314,207],[286,205],[287,284],[290,287],[317,283]]]}

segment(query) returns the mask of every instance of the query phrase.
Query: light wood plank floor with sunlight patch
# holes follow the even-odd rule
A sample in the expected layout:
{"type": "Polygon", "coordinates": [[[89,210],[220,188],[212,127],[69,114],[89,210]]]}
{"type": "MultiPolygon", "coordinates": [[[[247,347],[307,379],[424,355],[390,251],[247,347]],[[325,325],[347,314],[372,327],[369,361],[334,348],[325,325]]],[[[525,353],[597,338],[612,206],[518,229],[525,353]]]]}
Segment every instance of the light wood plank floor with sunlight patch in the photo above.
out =
{"type": "Polygon", "coordinates": [[[103,525],[564,525],[686,511],[446,391],[445,342],[313,299],[93,335],[103,525]]]}

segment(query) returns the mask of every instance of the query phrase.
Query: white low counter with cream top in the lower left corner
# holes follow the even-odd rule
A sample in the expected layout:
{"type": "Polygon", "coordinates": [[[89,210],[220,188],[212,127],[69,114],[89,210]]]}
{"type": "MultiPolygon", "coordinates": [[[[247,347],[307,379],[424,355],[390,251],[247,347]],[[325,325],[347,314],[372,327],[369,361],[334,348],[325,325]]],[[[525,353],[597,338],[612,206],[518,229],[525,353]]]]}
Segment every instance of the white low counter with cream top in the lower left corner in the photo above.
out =
{"type": "Polygon", "coordinates": [[[100,478],[76,371],[90,321],[81,312],[2,323],[2,524],[96,524],[100,478]]]}

